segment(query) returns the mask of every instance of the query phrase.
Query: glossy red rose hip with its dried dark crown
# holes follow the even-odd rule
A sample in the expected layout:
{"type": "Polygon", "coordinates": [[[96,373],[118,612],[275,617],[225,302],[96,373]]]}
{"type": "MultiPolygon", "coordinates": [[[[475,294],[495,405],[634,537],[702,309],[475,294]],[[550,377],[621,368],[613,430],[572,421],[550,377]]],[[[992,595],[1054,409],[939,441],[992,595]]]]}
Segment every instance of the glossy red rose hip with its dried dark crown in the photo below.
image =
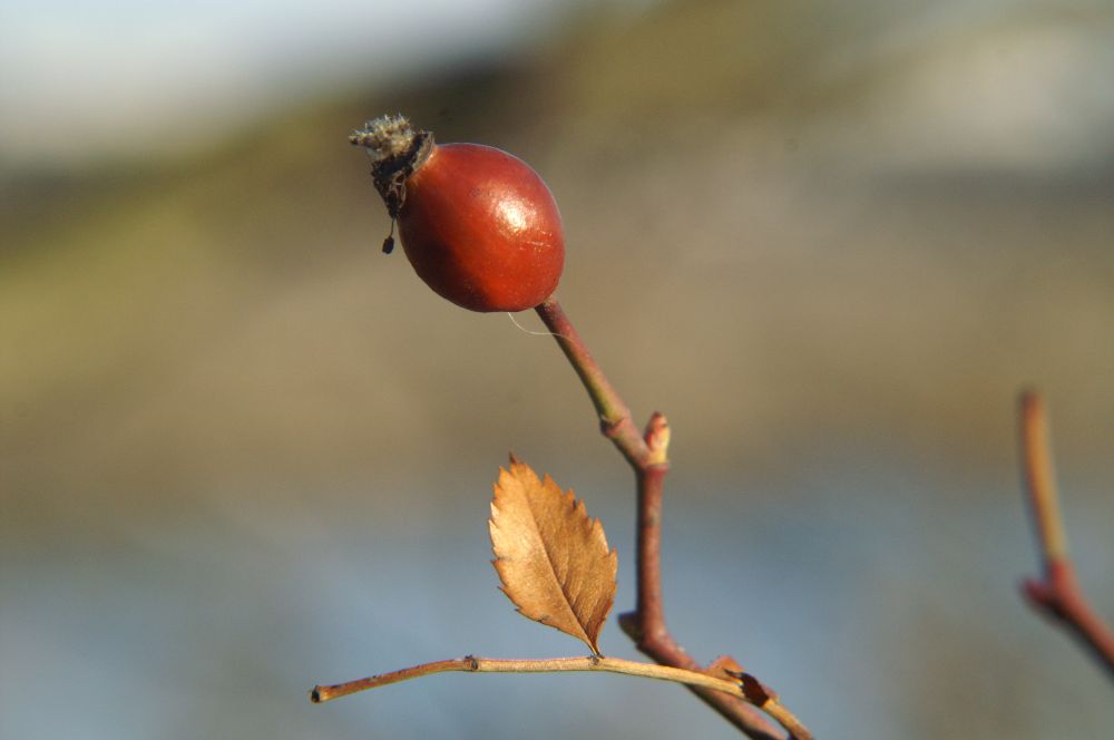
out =
{"type": "MultiPolygon", "coordinates": [[[[439,295],[472,311],[524,311],[556,290],[560,213],[521,159],[478,144],[437,145],[401,116],[368,121],[350,140],[367,148],[402,249],[439,295]]],[[[388,237],[384,251],[392,245],[388,237]]]]}

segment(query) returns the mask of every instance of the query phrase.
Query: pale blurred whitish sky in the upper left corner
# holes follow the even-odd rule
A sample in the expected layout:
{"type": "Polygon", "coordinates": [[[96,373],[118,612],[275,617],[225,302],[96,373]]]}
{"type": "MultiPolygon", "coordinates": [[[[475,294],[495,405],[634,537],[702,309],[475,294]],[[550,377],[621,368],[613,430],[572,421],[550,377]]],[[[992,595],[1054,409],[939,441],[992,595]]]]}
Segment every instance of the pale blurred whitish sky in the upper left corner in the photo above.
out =
{"type": "Polygon", "coordinates": [[[579,4],[12,0],[0,6],[0,153],[30,164],[212,142],[295,99],[528,46],[579,4]]]}

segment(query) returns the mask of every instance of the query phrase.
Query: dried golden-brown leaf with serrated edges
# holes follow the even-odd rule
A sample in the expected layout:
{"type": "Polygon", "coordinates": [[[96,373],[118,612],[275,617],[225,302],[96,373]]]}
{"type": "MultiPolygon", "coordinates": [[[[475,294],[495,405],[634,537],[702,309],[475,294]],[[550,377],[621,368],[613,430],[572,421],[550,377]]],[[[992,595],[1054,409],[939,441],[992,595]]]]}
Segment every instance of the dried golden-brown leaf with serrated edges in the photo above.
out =
{"type": "Polygon", "coordinates": [[[489,529],[501,591],[518,612],[583,640],[598,655],[618,558],[584,502],[511,456],[495,484],[489,529]]]}

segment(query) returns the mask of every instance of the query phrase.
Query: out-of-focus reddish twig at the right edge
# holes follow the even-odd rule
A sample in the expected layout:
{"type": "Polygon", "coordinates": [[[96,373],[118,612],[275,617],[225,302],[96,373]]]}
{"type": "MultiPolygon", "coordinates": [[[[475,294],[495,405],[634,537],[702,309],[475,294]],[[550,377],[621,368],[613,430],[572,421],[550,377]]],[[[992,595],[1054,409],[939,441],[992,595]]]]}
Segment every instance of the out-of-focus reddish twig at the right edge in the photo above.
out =
{"type": "Polygon", "coordinates": [[[1025,391],[1019,410],[1025,484],[1043,568],[1043,576],[1027,578],[1022,592],[1036,611],[1058,622],[1114,679],[1114,632],[1084,596],[1067,551],[1044,403],[1036,392],[1025,391]]]}

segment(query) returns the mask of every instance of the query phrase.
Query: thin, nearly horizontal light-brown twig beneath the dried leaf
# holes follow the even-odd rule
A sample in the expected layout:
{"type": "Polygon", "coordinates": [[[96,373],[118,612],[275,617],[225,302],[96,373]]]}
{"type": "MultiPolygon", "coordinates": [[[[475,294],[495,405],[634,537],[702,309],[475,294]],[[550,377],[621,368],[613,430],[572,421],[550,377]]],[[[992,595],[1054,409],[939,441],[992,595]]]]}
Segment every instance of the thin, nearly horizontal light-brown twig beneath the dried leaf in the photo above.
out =
{"type": "MultiPolygon", "coordinates": [[[[310,692],[310,700],[314,703],[322,703],[340,699],[359,691],[378,689],[391,683],[419,679],[433,673],[446,673],[460,671],[463,673],[563,673],[563,672],[604,672],[622,673],[624,675],[636,675],[644,679],[657,681],[672,681],[691,687],[700,687],[709,691],[715,691],[735,697],[743,701],[751,701],[760,704],[771,717],[778,719],[789,727],[800,727],[800,722],[784,707],[778,703],[775,697],[759,694],[755,695],[746,685],[750,676],[742,674],[740,681],[729,679],[717,679],[697,671],[685,671],[668,665],[655,665],[653,663],[638,663],[626,661],[619,658],[604,658],[600,655],[588,655],[587,658],[543,658],[537,660],[500,660],[494,658],[477,658],[467,655],[433,663],[413,665],[390,673],[381,673],[367,679],[358,679],[345,683],[338,683],[330,687],[314,687],[310,692]]],[[[805,736],[800,736],[805,737],[805,736]]]]}

